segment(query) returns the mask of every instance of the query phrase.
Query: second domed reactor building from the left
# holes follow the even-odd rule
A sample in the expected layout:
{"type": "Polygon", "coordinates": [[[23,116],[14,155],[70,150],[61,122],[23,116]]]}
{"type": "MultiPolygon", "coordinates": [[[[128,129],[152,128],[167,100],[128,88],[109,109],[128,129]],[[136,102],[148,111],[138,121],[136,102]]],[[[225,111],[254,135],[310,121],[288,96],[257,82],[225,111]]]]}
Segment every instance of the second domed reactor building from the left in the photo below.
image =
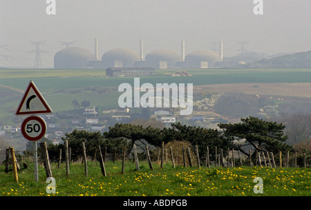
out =
{"type": "Polygon", "coordinates": [[[133,67],[140,56],[133,50],[117,48],[109,50],[102,55],[102,68],[133,67]]]}

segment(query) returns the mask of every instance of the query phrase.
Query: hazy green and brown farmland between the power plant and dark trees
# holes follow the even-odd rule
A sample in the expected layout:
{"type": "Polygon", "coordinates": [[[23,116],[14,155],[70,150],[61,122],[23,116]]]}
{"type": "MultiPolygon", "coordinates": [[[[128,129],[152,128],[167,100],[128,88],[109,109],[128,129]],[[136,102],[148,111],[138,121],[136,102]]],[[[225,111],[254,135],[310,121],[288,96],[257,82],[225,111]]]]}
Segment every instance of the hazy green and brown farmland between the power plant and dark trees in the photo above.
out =
{"type": "MultiPolygon", "coordinates": [[[[217,122],[220,121],[236,122],[241,117],[267,117],[279,113],[308,112],[310,109],[311,69],[184,70],[191,76],[178,76],[176,75],[177,71],[179,70],[156,70],[156,76],[140,77],[140,84],[193,83],[194,103],[196,100],[205,100],[207,97],[207,100],[215,105],[207,110],[201,110],[198,109],[198,103],[196,103],[193,115],[214,118],[216,123],[191,122],[191,116],[177,118],[177,120],[182,120],[182,123],[216,127],[217,122]],[[218,103],[214,98],[220,99],[218,103]],[[281,99],[284,100],[281,101],[281,99]]],[[[75,116],[80,116],[79,120],[85,121],[82,116],[83,107],[73,106],[72,102],[75,100],[79,103],[90,101],[90,106],[96,107],[101,120],[100,126],[108,128],[113,125],[111,114],[104,114],[104,111],[111,113],[109,110],[119,108],[118,97],[122,93],[117,92],[118,85],[121,83],[133,85],[133,77],[106,77],[104,70],[1,69],[1,127],[5,125],[20,126],[22,118],[15,116],[15,109],[30,80],[35,82],[53,109],[53,115],[56,116],[54,120],[47,123],[57,123],[63,128],[62,132],[64,133],[74,129],[71,120],[75,116]],[[68,113],[68,117],[62,118],[62,113],[68,113]]],[[[202,103],[201,107],[204,105],[205,103],[202,103]]],[[[51,138],[57,138],[54,135],[55,130],[49,129],[48,132],[52,135],[51,138]]],[[[20,136],[11,135],[8,138],[13,139],[10,141],[10,145],[16,149],[25,149],[26,143],[20,136]]]]}

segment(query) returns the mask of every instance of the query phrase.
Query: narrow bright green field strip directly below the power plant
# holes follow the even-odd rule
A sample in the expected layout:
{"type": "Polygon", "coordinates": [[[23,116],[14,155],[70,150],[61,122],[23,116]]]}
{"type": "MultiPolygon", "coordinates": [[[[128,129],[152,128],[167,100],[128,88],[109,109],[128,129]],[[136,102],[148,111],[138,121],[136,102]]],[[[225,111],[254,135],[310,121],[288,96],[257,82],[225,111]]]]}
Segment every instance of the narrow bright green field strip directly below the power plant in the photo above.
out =
{"type": "MultiPolygon", "coordinates": [[[[311,69],[205,69],[185,70],[192,76],[167,76],[181,70],[157,70],[157,76],[141,78],[141,83],[308,83],[311,69]]],[[[24,90],[29,80],[47,91],[77,87],[111,87],[133,83],[133,78],[107,78],[105,70],[0,70],[3,85],[24,90]]]]}

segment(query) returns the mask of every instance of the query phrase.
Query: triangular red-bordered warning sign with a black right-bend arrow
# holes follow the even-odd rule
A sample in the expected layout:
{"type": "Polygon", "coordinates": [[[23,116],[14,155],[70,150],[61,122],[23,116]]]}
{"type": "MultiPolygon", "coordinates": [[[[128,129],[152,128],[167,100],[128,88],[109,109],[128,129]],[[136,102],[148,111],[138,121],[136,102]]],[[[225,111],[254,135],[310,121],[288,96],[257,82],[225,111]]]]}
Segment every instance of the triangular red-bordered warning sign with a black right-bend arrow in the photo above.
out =
{"type": "Polygon", "coordinates": [[[35,83],[29,82],[15,115],[50,114],[52,109],[37,89],[35,83]]]}

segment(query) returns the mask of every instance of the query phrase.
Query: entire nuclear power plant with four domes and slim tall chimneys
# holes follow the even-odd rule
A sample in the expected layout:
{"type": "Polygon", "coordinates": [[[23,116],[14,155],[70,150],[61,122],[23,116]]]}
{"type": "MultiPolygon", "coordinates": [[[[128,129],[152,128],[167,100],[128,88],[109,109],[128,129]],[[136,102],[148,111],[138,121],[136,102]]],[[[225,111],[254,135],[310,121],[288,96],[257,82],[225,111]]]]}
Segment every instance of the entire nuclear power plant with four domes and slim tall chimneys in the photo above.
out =
{"type": "Polygon", "coordinates": [[[185,41],[181,44],[181,54],[173,50],[158,49],[144,56],[143,41],[140,40],[140,53],[126,48],[108,50],[99,60],[98,40],[95,39],[94,52],[84,48],[68,47],[54,56],[55,69],[108,69],[139,68],[209,68],[223,67],[223,43],[219,43],[219,53],[211,50],[194,50],[185,55],[185,41]]]}

